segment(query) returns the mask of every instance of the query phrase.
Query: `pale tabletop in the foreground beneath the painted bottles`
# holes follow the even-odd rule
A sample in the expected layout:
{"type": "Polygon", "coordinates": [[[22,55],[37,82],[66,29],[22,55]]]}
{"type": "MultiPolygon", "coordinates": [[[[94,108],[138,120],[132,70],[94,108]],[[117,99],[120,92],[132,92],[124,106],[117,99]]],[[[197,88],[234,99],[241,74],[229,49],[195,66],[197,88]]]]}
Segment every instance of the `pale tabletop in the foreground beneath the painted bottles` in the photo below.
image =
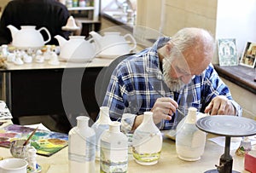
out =
{"type": "MultiPolygon", "coordinates": [[[[208,135],[211,137],[212,135],[208,135]]],[[[42,173],[67,173],[68,172],[68,147],[63,148],[58,153],[50,157],[38,155],[37,161],[43,168],[42,173]]],[[[0,147],[1,157],[3,159],[11,157],[8,148],[0,147]]],[[[158,164],[152,166],[144,166],[137,164],[129,150],[129,163],[128,172],[204,172],[206,170],[215,169],[215,164],[218,164],[220,156],[224,153],[224,147],[220,147],[212,141],[207,140],[205,152],[200,160],[195,162],[187,162],[177,158],[175,149],[175,141],[164,137],[162,153],[158,164]]],[[[230,153],[233,157],[233,170],[240,171],[241,173],[248,173],[243,169],[243,157],[236,156],[235,151],[230,153]]],[[[99,162],[96,161],[96,172],[99,172],[99,162]]]]}

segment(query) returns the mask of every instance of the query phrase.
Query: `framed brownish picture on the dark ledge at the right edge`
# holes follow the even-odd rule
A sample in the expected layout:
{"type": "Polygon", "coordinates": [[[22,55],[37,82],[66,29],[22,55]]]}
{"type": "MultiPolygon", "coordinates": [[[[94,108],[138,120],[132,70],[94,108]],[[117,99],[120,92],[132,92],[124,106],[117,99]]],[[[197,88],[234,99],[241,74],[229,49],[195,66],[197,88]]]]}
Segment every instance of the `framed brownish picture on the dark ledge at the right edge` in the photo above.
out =
{"type": "Polygon", "coordinates": [[[254,68],[256,63],[256,43],[247,42],[243,54],[241,55],[240,64],[254,68]]]}

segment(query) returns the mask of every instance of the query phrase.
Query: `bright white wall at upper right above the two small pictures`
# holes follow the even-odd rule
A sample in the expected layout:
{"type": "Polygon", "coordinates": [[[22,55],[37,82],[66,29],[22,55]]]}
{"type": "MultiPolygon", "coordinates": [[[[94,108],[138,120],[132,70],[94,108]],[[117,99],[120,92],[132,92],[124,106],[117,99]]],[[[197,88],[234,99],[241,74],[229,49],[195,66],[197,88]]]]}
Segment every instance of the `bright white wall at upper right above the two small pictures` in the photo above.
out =
{"type": "MultiPolygon", "coordinates": [[[[218,1],[216,37],[236,38],[239,55],[241,55],[248,41],[256,42],[255,9],[255,0],[218,1]]],[[[218,60],[215,59],[215,61],[218,60]]]]}

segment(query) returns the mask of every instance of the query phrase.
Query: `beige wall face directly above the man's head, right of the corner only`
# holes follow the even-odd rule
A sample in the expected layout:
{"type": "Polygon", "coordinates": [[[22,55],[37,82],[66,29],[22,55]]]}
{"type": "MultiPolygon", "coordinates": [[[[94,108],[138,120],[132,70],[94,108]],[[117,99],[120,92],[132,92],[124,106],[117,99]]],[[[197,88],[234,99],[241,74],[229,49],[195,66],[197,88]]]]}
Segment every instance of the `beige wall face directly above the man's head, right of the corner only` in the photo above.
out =
{"type": "Polygon", "coordinates": [[[166,0],[166,25],[163,32],[173,35],[183,27],[203,27],[215,33],[217,0],[166,0]]]}

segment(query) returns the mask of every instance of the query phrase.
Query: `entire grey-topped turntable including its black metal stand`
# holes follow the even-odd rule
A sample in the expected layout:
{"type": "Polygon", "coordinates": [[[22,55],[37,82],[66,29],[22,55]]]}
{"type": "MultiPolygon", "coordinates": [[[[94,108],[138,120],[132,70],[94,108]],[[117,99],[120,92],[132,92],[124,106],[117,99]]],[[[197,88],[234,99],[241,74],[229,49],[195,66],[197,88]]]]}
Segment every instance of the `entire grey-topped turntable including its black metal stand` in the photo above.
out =
{"type": "Polygon", "coordinates": [[[205,173],[239,173],[232,170],[233,159],[230,155],[230,138],[239,136],[253,136],[256,134],[256,121],[249,118],[229,115],[207,116],[196,122],[198,129],[218,136],[225,136],[224,154],[219,159],[217,169],[207,170],[205,173]]]}

